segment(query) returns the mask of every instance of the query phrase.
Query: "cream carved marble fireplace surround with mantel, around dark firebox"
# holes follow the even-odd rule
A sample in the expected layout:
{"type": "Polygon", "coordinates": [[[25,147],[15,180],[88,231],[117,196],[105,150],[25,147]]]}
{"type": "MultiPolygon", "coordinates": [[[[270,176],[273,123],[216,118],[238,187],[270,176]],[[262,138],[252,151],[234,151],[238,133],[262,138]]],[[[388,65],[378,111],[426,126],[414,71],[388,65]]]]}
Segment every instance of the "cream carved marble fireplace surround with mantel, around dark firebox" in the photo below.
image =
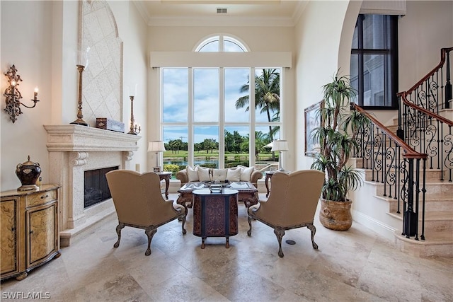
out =
{"type": "Polygon", "coordinates": [[[49,182],[61,186],[59,237],[69,246],[77,234],[115,212],[112,199],[84,209],[84,172],[118,166],[130,170],[137,135],[77,124],[45,125],[49,182]]]}

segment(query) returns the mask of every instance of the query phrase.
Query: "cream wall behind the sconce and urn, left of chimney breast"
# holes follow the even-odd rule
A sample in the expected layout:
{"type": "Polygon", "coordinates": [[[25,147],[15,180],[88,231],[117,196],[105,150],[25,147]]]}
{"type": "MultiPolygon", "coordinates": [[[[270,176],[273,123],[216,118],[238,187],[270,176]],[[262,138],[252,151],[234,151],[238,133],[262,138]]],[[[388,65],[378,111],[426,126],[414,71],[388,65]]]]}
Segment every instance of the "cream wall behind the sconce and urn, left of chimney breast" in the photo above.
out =
{"type": "Polygon", "coordinates": [[[42,124],[52,120],[52,2],[1,1],[1,91],[8,86],[4,72],[16,65],[23,81],[18,86],[23,103],[32,105],[33,89],[39,88],[40,102],[33,109],[23,108],[23,114],[13,124],[4,112],[1,96],[1,190],[21,186],[15,174],[16,165],[30,155],[47,175],[46,134],[42,124]],[[20,26],[18,26],[20,25],[20,26]],[[39,33],[39,34],[37,34],[39,33]]]}

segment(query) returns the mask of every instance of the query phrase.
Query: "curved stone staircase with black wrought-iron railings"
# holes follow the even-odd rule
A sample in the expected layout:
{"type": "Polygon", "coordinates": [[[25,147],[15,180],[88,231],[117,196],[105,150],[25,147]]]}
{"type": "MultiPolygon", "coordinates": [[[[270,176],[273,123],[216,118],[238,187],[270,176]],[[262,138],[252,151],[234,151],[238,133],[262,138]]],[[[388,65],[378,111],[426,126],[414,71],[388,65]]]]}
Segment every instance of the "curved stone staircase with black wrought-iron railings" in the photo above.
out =
{"type": "Polygon", "coordinates": [[[355,192],[355,220],[419,257],[453,257],[453,101],[449,52],[408,91],[398,117],[372,120],[357,139],[355,165],[364,185],[355,192]]]}

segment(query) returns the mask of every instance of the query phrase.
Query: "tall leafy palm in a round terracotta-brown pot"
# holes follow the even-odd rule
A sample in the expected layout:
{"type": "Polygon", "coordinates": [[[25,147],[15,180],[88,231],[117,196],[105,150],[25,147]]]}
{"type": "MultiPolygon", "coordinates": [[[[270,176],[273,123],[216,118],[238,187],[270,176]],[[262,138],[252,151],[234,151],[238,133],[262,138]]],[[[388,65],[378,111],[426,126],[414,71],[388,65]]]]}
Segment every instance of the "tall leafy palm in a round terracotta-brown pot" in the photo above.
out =
{"type": "Polygon", "coordinates": [[[360,170],[348,165],[357,150],[357,134],[370,121],[360,112],[350,110],[350,100],[356,91],[347,76],[333,76],[333,81],[323,86],[323,105],[317,112],[319,127],[311,132],[316,148],[312,169],[326,173],[321,190],[319,220],[326,228],[346,231],[352,226],[348,192],[362,185],[360,170]]]}

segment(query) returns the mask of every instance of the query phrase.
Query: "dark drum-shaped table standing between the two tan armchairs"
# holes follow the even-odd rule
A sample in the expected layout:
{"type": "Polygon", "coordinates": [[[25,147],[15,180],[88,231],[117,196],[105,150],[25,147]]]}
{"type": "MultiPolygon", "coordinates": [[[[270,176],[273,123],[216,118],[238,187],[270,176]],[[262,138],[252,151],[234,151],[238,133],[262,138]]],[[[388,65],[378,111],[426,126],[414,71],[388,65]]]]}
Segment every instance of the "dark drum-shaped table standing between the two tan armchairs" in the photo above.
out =
{"type": "Polygon", "coordinates": [[[201,248],[205,248],[207,237],[225,237],[225,248],[229,248],[229,236],[238,233],[238,190],[223,189],[194,190],[193,235],[201,237],[201,248]]]}

